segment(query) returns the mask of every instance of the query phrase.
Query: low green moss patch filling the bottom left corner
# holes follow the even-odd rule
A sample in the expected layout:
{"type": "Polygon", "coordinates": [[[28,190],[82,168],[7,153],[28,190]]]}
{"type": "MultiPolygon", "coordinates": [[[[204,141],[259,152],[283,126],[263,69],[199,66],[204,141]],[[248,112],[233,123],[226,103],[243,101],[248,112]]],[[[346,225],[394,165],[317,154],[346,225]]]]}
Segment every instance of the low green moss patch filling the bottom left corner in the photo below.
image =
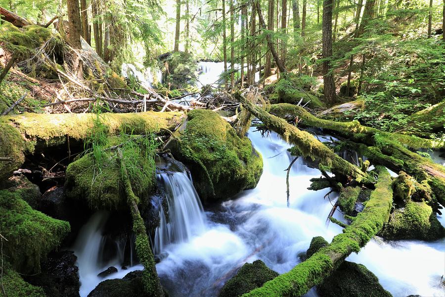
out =
{"type": "Polygon", "coordinates": [[[28,284],[8,266],[4,264],[1,279],[5,297],[46,297],[42,288],[28,284]]]}

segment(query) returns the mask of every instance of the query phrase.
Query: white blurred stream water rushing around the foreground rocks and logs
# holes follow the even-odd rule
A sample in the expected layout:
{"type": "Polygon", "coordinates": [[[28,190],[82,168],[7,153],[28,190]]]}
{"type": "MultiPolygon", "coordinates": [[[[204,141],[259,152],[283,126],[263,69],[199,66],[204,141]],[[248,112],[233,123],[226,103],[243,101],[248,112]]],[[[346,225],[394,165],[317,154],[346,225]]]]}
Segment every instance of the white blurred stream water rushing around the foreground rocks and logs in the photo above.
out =
{"type": "MultiPolygon", "coordinates": [[[[287,272],[300,262],[298,255],[306,251],[312,237],[323,236],[330,241],[341,232],[341,228],[332,223],[326,228],[326,218],[336,197],[331,194],[332,201],[323,199],[328,189],[307,190],[309,180],[319,177],[320,172],[305,166],[301,159],[294,163],[289,179],[288,208],[283,170],[293,158],[286,150],[290,146],[274,133],[263,138],[260,132],[251,129],[249,138],[263,155],[264,173],[255,189],[223,202],[218,209],[202,211],[185,173],[158,176],[174,198],[168,201],[171,222],[167,224],[164,220],[155,240],[157,251],[164,255],[156,268],[172,297],[217,296],[243,263],[256,259],[262,259],[278,273],[287,272]]],[[[334,217],[344,220],[338,211],[334,217]]],[[[438,218],[445,225],[444,216],[438,218]]],[[[94,246],[100,242],[97,235],[100,235],[100,222],[92,217],[89,232],[81,232],[78,242],[87,243],[85,250],[95,250],[94,246]]],[[[95,275],[110,265],[98,269],[93,264],[97,259],[89,259],[88,252],[77,250],[84,297],[101,281],[95,275]]],[[[364,264],[395,297],[444,296],[439,286],[444,274],[444,251],[445,240],[383,242],[376,238],[348,260],[364,264]]],[[[134,269],[141,266],[131,268],[134,269]]],[[[131,270],[108,278],[123,277],[131,270]]],[[[308,296],[317,294],[312,289],[308,296]]]]}

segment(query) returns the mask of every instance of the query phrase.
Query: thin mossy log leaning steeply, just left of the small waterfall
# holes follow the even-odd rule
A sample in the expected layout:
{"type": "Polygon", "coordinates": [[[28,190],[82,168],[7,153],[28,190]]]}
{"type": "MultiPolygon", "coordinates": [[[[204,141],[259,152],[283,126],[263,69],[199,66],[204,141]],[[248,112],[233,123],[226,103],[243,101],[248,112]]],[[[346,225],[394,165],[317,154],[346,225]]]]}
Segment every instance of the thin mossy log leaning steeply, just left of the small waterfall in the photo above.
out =
{"type": "Polygon", "coordinates": [[[121,150],[118,148],[118,155],[120,159],[120,176],[124,184],[125,194],[127,196],[127,203],[130,207],[133,218],[133,232],[136,235],[136,253],[140,262],[144,266],[142,281],[144,283],[145,293],[150,297],[163,297],[164,292],[159,281],[158,273],[156,271],[153,252],[150,247],[150,242],[145,229],[144,221],[139,213],[137,198],[132,189],[127,167],[125,166],[124,157],[121,150]]]}

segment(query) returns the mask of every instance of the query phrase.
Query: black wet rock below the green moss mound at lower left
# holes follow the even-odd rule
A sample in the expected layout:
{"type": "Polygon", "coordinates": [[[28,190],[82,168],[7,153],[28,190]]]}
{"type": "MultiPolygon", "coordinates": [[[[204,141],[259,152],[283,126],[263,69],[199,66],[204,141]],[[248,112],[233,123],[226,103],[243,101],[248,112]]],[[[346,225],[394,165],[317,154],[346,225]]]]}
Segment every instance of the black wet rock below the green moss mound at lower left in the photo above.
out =
{"type": "Polygon", "coordinates": [[[42,272],[24,276],[30,284],[42,287],[47,297],[79,297],[79,268],[71,250],[50,253],[42,263],[42,272]]]}

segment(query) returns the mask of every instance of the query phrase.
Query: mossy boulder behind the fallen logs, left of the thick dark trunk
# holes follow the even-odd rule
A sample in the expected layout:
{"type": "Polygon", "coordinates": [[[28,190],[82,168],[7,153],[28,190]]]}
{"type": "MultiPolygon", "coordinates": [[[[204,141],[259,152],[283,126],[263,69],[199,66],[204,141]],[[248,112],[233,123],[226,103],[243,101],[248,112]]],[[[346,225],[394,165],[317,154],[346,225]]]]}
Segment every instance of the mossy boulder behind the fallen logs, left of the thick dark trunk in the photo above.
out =
{"type": "Polygon", "coordinates": [[[324,103],[313,95],[310,90],[305,90],[301,86],[295,85],[290,79],[282,78],[275,85],[275,91],[278,94],[277,103],[298,104],[303,99],[301,105],[310,101],[309,106],[315,108],[325,107],[324,103]]]}

